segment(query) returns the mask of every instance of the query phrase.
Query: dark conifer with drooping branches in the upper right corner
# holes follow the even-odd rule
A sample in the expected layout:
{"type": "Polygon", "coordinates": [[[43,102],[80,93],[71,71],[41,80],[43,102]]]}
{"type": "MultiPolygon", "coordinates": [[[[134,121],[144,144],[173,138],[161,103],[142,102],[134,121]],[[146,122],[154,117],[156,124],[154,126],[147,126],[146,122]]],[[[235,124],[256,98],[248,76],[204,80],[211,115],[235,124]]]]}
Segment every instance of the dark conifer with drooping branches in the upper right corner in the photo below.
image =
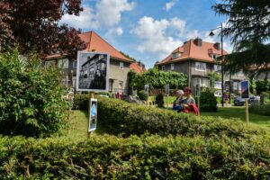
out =
{"type": "Polygon", "coordinates": [[[227,56],[226,65],[232,71],[251,67],[258,72],[269,70],[270,63],[270,1],[222,0],[212,6],[220,15],[228,17],[222,31],[231,38],[234,53],[227,56]]]}

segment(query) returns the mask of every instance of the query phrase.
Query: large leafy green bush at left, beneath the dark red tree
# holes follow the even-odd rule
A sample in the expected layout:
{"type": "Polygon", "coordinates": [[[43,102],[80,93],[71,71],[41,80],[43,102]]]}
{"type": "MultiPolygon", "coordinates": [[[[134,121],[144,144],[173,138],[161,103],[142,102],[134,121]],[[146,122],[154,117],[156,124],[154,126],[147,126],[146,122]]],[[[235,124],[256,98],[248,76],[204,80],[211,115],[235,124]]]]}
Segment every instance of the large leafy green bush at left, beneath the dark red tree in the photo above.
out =
{"type": "Polygon", "coordinates": [[[15,50],[0,55],[0,133],[49,136],[65,126],[68,108],[59,72],[15,50]]]}

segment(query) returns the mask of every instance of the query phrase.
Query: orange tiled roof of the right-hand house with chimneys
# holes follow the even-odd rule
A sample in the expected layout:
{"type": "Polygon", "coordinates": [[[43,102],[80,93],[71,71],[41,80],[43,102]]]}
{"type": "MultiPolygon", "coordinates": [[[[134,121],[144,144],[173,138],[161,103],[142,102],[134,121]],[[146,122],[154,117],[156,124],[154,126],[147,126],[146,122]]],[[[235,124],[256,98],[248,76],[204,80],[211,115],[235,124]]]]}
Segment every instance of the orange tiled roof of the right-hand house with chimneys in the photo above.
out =
{"type": "MultiPolygon", "coordinates": [[[[211,54],[221,55],[221,50],[214,47],[214,43],[202,41],[202,46],[197,46],[194,40],[188,40],[183,46],[175,49],[166,58],[157,63],[157,65],[168,64],[177,61],[184,61],[187,59],[195,59],[205,62],[214,62],[211,58],[211,54]],[[179,58],[173,58],[173,53],[182,52],[179,58]]],[[[226,50],[223,50],[223,55],[228,54],[226,50]]]]}

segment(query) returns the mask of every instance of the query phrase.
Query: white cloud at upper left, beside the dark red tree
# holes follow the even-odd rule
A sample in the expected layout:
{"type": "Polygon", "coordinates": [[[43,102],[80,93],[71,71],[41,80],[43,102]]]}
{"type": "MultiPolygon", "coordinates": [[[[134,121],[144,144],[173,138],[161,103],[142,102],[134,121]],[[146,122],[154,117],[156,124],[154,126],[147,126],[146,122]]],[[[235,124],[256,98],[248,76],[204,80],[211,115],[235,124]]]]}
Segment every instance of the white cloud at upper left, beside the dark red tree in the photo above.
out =
{"type": "Polygon", "coordinates": [[[65,14],[60,23],[67,23],[80,29],[105,29],[107,34],[121,35],[123,30],[119,26],[121,14],[131,11],[134,2],[128,0],[98,0],[94,8],[84,7],[79,15],[65,14]]]}

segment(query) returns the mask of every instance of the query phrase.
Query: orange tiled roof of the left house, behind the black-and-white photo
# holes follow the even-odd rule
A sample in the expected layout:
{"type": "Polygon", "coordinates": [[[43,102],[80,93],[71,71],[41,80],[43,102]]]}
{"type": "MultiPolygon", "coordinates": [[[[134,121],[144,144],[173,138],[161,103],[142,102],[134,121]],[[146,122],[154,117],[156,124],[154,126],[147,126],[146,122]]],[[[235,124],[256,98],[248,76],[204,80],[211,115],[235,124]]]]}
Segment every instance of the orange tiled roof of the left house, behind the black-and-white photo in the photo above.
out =
{"type": "Polygon", "coordinates": [[[88,31],[79,34],[81,40],[85,41],[86,49],[85,51],[96,50],[98,52],[109,53],[112,58],[117,58],[126,62],[134,62],[130,58],[123,56],[117,49],[113,48],[106,40],[103,40],[97,33],[94,31],[88,31]]]}

